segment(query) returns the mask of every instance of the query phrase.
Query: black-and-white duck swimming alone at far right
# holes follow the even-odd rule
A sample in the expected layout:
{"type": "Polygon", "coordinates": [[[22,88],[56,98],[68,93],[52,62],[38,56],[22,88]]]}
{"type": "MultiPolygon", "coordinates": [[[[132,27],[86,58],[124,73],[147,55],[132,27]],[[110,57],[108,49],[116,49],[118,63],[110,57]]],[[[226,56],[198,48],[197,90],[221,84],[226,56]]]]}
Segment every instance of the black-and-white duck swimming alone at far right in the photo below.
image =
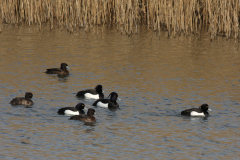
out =
{"type": "Polygon", "coordinates": [[[207,116],[209,115],[208,111],[211,109],[208,108],[208,104],[202,104],[199,108],[191,108],[181,112],[181,115],[184,116],[207,116]]]}

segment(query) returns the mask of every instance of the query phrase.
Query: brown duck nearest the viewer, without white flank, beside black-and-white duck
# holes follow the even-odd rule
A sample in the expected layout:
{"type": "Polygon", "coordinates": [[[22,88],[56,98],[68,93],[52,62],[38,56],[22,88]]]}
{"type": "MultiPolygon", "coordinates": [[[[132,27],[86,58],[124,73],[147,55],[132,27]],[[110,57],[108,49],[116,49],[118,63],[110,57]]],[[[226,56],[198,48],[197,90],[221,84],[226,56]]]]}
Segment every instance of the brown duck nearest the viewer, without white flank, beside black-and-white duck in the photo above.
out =
{"type": "Polygon", "coordinates": [[[95,117],[93,116],[95,110],[92,108],[88,109],[87,115],[75,115],[69,118],[69,120],[79,120],[84,122],[96,122],[95,117]]]}

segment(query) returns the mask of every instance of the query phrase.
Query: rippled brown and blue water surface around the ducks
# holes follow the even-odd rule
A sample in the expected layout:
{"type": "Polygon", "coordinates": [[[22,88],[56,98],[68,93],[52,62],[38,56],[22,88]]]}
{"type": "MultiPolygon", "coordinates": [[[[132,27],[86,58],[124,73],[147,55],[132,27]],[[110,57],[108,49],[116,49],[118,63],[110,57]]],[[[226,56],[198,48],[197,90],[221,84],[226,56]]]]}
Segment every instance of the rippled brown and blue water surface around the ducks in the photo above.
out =
{"type": "MultiPolygon", "coordinates": [[[[208,34],[206,34],[208,35],[208,34]]],[[[110,29],[69,34],[5,26],[0,34],[1,159],[238,159],[239,43],[222,37],[167,38],[144,29],[132,36],[110,29]],[[46,68],[68,63],[58,78],[46,68]],[[85,125],[57,114],[77,91],[103,85],[119,110],[95,108],[85,125]],[[11,106],[31,91],[32,108],[11,106]],[[206,118],[183,117],[208,103],[206,118]]]]}

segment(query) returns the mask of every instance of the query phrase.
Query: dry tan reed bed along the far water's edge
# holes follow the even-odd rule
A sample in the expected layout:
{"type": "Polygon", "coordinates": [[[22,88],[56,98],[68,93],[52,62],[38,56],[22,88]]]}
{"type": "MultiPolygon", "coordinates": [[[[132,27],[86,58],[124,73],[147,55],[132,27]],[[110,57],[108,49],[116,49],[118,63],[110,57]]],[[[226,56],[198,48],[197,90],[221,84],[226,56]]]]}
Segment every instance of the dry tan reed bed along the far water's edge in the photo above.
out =
{"type": "Polygon", "coordinates": [[[239,38],[239,0],[0,0],[2,23],[49,23],[69,31],[115,25],[131,34],[139,25],[169,35],[199,33],[239,38]]]}

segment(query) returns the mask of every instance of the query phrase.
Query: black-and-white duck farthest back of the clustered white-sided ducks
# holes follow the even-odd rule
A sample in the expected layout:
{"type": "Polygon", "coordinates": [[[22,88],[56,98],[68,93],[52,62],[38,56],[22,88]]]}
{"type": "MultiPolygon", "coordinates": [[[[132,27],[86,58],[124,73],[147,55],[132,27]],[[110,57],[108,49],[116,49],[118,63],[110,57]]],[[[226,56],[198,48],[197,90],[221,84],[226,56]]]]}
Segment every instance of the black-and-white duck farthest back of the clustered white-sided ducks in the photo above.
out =
{"type": "Polygon", "coordinates": [[[87,89],[87,90],[79,91],[76,96],[83,97],[83,98],[103,99],[104,95],[103,95],[102,85],[97,85],[95,89],[87,89]]]}

